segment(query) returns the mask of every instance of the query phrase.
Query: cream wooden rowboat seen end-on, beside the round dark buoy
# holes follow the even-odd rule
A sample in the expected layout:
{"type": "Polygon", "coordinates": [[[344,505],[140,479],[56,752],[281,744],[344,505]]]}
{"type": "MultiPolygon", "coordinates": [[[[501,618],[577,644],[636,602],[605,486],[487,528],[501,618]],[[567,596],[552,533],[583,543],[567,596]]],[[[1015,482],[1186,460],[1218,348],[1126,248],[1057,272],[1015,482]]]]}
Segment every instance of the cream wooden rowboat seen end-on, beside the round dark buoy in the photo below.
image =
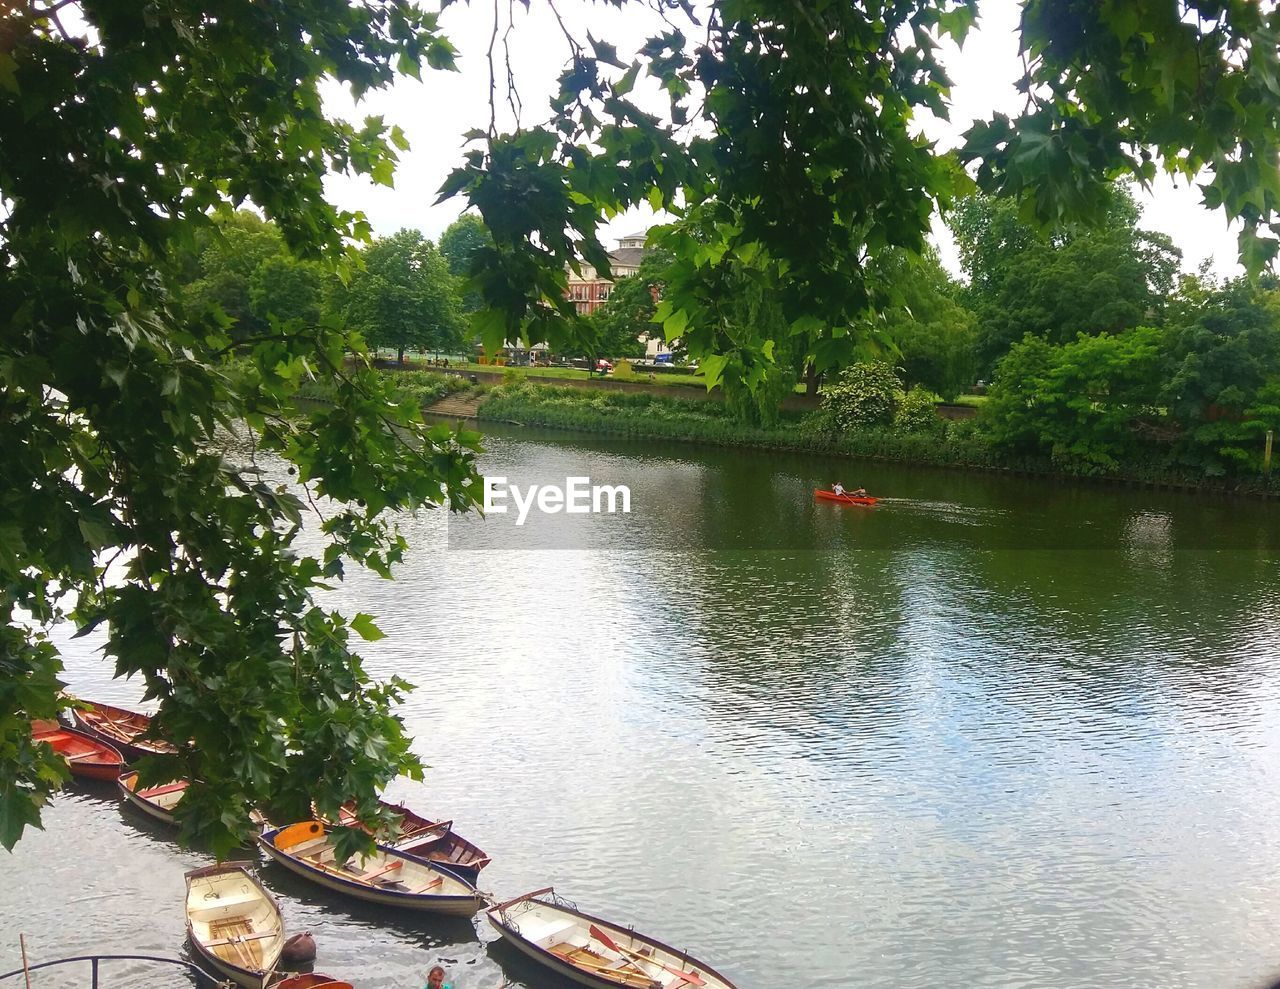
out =
{"type": "Polygon", "coordinates": [[[280,905],[243,866],[187,873],[187,937],[201,961],[244,989],[262,989],[284,948],[280,905]]]}

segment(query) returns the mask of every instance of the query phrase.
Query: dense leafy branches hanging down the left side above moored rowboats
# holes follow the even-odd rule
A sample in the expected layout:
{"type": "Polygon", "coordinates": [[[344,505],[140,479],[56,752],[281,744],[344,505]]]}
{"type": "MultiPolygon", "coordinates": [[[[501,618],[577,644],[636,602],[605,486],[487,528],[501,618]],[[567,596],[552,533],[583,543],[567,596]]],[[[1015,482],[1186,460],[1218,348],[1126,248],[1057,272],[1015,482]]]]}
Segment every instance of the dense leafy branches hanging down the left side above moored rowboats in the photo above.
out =
{"type": "Polygon", "coordinates": [[[252,201],[296,256],[346,264],[367,224],[325,202],[325,174],[389,183],[403,139],[325,118],[321,79],[358,96],[452,49],[401,0],[223,0],[216,18],[86,1],[58,20],[64,6],[0,8],[0,844],[65,778],[29,733],[58,709],[47,631],[65,618],[105,633],[116,672],[159,704],[157,732],[193,742],[142,768],[193,780],[186,839],[225,853],[251,807],[303,816],[312,800],[357,798],[376,821],[378,789],[421,773],[394,714],[407,684],[375,682],[356,654],[353,635],[380,635],[369,615],[315,594],[349,563],[401,558],[389,509],[472,504],[474,439],[425,427],[358,336],[288,317],[244,335],[252,281],[247,299],[236,281],[233,339],[169,294],[168,258],[219,251],[242,278],[228,244],[265,238],[232,210],[252,201]],[[300,413],[308,377],[332,383],[332,404],[300,413]],[[292,463],[294,486],[259,452],[292,463]],[[326,505],[315,555],[297,539],[311,499],[326,505]]]}

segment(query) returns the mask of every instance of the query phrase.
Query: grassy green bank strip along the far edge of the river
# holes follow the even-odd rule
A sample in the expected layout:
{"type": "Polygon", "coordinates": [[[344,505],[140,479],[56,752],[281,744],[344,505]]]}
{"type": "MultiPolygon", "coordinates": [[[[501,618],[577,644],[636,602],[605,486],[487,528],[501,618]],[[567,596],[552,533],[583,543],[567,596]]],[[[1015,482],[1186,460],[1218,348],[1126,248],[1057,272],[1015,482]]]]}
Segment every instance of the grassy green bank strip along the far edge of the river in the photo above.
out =
{"type": "Polygon", "coordinates": [[[724,447],[900,461],[938,467],[1078,477],[1203,491],[1280,496],[1280,484],[1261,479],[1217,480],[1161,463],[1128,464],[1123,472],[1065,470],[1047,458],[1010,457],[987,440],[973,420],[942,421],[934,429],[904,432],[864,429],[833,435],[814,413],[783,413],[777,426],[750,426],[713,402],[687,402],[649,394],[557,389],[530,383],[489,392],[479,417],[527,426],[581,430],[634,439],[713,443],[724,447]]]}

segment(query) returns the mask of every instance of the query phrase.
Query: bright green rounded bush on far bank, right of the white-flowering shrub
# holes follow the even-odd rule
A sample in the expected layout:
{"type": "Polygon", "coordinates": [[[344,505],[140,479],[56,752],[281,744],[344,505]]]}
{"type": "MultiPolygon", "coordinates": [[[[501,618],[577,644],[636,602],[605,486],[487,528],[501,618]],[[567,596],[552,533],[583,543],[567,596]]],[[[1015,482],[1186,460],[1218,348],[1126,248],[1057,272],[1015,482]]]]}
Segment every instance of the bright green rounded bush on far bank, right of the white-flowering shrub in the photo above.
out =
{"type": "Polygon", "coordinates": [[[1151,326],[1057,347],[1028,335],[997,366],[982,415],[997,447],[1115,471],[1137,458],[1137,421],[1156,415],[1161,363],[1151,326]]]}

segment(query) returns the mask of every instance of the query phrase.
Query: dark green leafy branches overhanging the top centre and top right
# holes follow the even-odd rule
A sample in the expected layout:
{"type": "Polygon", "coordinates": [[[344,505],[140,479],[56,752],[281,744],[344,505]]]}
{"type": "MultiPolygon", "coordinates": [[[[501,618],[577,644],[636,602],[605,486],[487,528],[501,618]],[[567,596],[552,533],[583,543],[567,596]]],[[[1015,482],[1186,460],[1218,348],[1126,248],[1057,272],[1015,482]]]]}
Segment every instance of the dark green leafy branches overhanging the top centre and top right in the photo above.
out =
{"type": "MultiPolygon", "coordinates": [[[[987,192],[1020,200],[1037,228],[1106,219],[1116,174],[1148,182],[1158,164],[1188,177],[1212,165],[1207,201],[1244,221],[1249,269],[1266,262],[1276,242],[1257,237],[1280,207],[1280,133],[1262,107],[1275,105],[1280,12],[1027,0],[1025,109],[980,122],[945,155],[914,120],[922,109],[946,115],[937,38],[963,38],[977,8],[721,0],[686,35],[680,12],[696,18],[678,3],[631,63],[605,41],[571,40],[553,123],[472,132],[477,146],[442,189],[465,196],[494,234],[474,257],[490,347],[525,334],[563,351],[581,338],[564,269],[608,271],[599,216],[648,202],[677,218],[652,232],[675,256],[657,312],[667,338],[704,367],[716,360],[764,385],[780,335],[722,333],[719,307],[746,270],[817,371],[846,366],[868,315],[884,308],[867,261],[924,249],[931,215],[972,189],[957,160],[987,192]],[[669,113],[631,100],[640,73],[669,113]]],[[[1100,313],[1057,339],[1125,325],[1128,312],[1100,313]]]]}

